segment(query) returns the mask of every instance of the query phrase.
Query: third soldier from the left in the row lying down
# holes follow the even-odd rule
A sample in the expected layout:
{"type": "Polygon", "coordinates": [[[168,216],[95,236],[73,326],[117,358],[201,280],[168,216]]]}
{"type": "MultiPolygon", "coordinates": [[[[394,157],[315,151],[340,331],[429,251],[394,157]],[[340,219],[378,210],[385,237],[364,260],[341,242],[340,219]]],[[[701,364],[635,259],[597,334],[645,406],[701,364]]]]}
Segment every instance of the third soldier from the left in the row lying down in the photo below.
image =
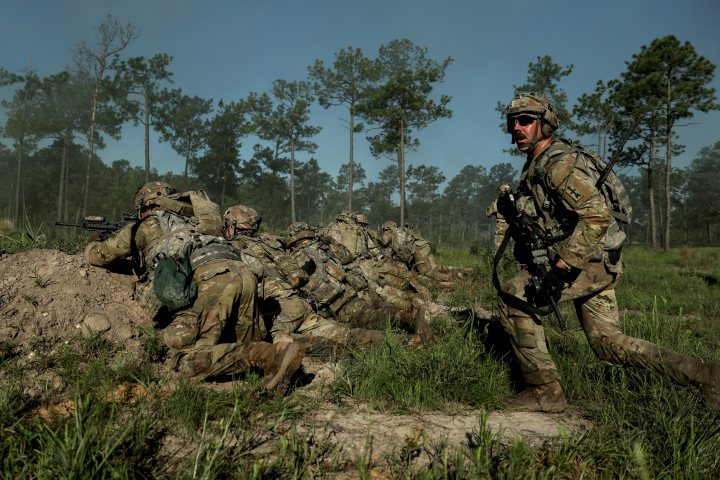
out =
{"type": "Polygon", "coordinates": [[[397,326],[426,333],[424,307],[409,312],[384,301],[382,294],[369,288],[361,268],[343,268],[351,260],[343,245],[332,238],[316,237],[301,222],[288,228],[286,239],[298,264],[313,264],[310,282],[302,290],[316,309],[329,310],[341,322],[362,328],[383,329],[390,319],[397,326]]]}

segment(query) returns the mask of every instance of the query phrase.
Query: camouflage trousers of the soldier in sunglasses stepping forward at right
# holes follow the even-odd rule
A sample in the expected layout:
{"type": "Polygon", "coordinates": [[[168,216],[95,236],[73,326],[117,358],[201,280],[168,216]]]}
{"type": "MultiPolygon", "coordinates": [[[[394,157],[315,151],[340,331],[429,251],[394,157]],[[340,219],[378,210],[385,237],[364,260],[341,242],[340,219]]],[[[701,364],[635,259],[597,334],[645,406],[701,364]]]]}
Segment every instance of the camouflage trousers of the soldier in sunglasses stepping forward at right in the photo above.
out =
{"type": "MultiPolygon", "coordinates": [[[[580,324],[598,358],[644,368],[657,375],[667,374],[680,385],[687,385],[697,360],[623,335],[614,290],[618,277],[619,274],[608,272],[603,262],[591,262],[572,285],[563,290],[560,302],[573,301],[580,324]]],[[[530,273],[523,270],[502,289],[525,300],[529,279],[530,273]]],[[[544,385],[560,380],[548,353],[543,327],[527,314],[510,308],[500,298],[498,304],[502,325],[510,336],[525,381],[530,385],[544,385]]]]}

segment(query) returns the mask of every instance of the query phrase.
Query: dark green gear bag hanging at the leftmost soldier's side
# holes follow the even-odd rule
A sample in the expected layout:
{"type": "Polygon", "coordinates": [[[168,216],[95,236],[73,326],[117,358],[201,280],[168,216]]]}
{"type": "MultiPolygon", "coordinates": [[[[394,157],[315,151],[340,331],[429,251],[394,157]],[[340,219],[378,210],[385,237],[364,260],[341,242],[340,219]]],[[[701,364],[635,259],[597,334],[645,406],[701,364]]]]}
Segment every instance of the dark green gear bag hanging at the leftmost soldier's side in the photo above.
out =
{"type": "Polygon", "coordinates": [[[197,297],[190,261],[187,258],[163,258],[155,266],[155,295],[171,312],[183,310],[197,297]]]}

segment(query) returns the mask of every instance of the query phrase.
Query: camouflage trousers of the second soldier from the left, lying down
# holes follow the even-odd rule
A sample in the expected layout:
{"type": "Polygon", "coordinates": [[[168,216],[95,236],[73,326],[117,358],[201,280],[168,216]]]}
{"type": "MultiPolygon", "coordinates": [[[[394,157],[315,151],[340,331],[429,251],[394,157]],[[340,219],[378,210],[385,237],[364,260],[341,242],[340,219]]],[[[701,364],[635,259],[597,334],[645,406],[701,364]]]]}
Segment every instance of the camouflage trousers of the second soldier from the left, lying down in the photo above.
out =
{"type": "Polygon", "coordinates": [[[290,336],[294,341],[312,347],[316,353],[331,351],[337,344],[370,346],[381,342],[385,336],[383,332],[351,329],[322,318],[297,294],[274,300],[277,304],[270,329],[273,337],[290,336]]]}

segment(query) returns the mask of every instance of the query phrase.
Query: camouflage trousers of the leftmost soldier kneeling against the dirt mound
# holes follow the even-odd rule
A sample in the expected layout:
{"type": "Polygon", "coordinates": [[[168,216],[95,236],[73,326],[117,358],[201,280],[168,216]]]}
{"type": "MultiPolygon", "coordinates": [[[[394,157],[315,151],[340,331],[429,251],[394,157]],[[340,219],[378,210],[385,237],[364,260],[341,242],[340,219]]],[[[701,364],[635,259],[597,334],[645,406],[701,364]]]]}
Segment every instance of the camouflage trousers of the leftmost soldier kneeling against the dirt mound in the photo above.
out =
{"type": "Polygon", "coordinates": [[[198,295],[187,310],[174,315],[163,338],[174,366],[189,377],[210,377],[247,371],[260,342],[257,283],[242,263],[214,260],[195,270],[198,295]],[[232,343],[219,343],[221,336],[232,343]]]}

